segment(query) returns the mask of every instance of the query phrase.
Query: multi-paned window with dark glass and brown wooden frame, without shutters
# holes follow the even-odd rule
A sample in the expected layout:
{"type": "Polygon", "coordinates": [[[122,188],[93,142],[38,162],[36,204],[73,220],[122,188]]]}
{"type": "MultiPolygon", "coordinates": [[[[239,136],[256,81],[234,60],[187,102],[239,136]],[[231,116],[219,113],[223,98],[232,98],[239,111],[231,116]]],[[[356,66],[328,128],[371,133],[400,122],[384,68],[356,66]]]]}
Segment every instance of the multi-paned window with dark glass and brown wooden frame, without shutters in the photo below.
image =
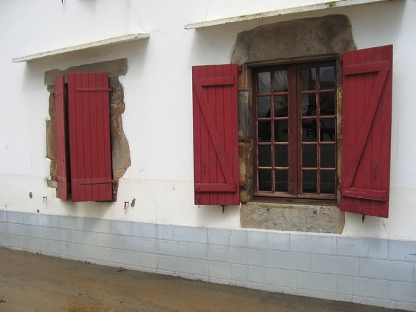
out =
{"type": "Polygon", "coordinates": [[[335,69],[253,71],[254,196],[336,199],[335,69]]]}

